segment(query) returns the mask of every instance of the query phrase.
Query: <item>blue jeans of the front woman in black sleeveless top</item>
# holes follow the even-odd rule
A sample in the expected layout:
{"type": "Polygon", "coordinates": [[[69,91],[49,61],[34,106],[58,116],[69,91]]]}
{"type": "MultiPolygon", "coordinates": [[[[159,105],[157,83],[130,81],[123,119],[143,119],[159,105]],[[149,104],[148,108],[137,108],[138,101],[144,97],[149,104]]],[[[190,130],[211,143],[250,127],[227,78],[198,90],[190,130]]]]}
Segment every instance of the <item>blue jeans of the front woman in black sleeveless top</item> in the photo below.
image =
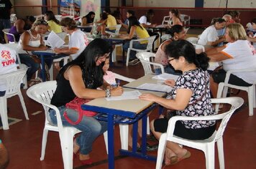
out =
{"type": "MultiPolygon", "coordinates": [[[[67,109],[65,106],[58,107],[58,109],[60,110],[63,126],[76,127],[78,130],[82,131],[81,135],[76,138],[76,143],[80,146],[80,153],[88,155],[92,150],[94,140],[107,130],[107,122],[98,121],[94,117],[83,116],[83,119],[79,124],[71,125],[65,120],[65,117],[63,116],[64,112],[67,112],[68,117],[72,121],[78,119],[78,112],[73,109],[67,109]]],[[[55,110],[50,110],[50,119],[54,125],[57,124],[55,110]]]]}

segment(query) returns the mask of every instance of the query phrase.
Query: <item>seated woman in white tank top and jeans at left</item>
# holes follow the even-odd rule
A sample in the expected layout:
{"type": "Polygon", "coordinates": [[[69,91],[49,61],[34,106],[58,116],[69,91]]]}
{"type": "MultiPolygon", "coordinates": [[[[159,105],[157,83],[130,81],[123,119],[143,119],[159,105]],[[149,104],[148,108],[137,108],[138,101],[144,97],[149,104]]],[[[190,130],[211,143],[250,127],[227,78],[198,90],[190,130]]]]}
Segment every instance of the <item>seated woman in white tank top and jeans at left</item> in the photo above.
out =
{"type": "MultiPolygon", "coordinates": [[[[47,27],[48,24],[44,19],[38,19],[34,22],[32,28],[24,32],[19,39],[19,46],[27,52],[27,54],[19,54],[20,62],[29,67],[29,69],[27,69],[27,81],[32,78],[32,75],[37,72],[37,69],[40,67],[40,64],[38,63],[40,61],[38,61],[37,58],[34,60],[31,57],[31,54],[29,54],[29,51],[45,51],[48,49],[44,45],[41,36],[47,32],[47,27]]],[[[52,66],[52,57],[45,56],[45,63],[50,69],[52,66]]],[[[40,74],[40,76],[42,76],[42,74],[40,74]]]]}

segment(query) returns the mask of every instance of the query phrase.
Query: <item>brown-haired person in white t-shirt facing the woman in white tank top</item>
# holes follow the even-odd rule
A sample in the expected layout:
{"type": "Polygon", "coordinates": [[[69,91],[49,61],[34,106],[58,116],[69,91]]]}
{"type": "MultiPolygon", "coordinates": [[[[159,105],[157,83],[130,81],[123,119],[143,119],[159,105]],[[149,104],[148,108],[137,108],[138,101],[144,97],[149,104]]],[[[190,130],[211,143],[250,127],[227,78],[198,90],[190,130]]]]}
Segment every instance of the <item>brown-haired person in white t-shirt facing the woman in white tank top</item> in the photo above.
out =
{"type": "MultiPolygon", "coordinates": [[[[54,51],[57,54],[70,54],[70,57],[74,60],[86,49],[89,41],[86,34],[76,28],[76,21],[73,19],[64,18],[60,21],[60,25],[70,35],[68,47],[55,48],[54,51]]],[[[55,67],[60,69],[63,65],[55,64],[55,67]]]]}

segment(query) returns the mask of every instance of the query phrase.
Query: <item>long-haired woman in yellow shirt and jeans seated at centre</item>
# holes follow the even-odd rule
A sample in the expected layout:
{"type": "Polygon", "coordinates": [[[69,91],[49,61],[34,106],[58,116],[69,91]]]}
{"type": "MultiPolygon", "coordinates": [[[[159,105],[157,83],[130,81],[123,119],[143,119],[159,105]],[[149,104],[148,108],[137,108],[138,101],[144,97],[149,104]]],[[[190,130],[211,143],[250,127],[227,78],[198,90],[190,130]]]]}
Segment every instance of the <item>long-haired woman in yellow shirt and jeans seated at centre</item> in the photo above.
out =
{"type": "MultiPolygon", "coordinates": [[[[130,16],[128,18],[129,20],[129,28],[128,28],[128,34],[127,35],[119,35],[120,38],[123,39],[132,39],[134,35],[137,36],[137,39],[143,39],[150,37],[150,35],[147,33],[147,30],[140,24],[140,22],[137,20],[135,16],[130,16]]],[[[147,41],[142,42],[134,42],[132,44],[134,48],[136,49],[146,49],[147,48],[147,41]]],[[[129,42],[125,42],[123,45],[123,49],[125,52],[128,51],[129,48],[129,42]]],[[[131,50],[129,54],[129,64],[137,64],[139,63],[139,59],[136,57],[136,51],[131,50]]]]}

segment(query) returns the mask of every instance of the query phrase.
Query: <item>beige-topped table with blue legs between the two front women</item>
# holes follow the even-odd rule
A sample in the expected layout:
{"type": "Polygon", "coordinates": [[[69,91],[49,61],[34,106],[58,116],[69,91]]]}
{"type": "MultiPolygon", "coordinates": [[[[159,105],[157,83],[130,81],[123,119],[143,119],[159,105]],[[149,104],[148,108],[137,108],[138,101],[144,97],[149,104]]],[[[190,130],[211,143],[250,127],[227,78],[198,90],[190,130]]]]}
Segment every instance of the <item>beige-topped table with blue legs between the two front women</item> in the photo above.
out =
{"type": "MultiPolygon", "coordinates": [[[[133,82],[124,86],[124,91],[137,89],[136,87],[145,82],[157,83],[157,80],[152,79],[152,74],[147,74],[133,82]]],[[[140,90],[140,89],[137,89],[140,90]]],[[[153,93],[160,97],[166,95],[165,92],[140,90],[142,93],[153,93]]],[[[109,168],[114,169],[114,125],[119,123],[133,124],[132,134],[132,151],[119,150],[121,155],[130,155],[136,158],[143,158],[145,160],[156,160],[156,157],[147,155],[147,113],[157,106],[154,102],[145,100],[116,100],[106,101],[105,98],[92,100],[91,102],[82,105],[83,110],[90,110],[99,112],[98,120],[105,120],[108,122],[108,149],[109,149],[109,168]],[[137,152],[137,130],[138,120],[142,119],[142,152],[137,152]]]]}

